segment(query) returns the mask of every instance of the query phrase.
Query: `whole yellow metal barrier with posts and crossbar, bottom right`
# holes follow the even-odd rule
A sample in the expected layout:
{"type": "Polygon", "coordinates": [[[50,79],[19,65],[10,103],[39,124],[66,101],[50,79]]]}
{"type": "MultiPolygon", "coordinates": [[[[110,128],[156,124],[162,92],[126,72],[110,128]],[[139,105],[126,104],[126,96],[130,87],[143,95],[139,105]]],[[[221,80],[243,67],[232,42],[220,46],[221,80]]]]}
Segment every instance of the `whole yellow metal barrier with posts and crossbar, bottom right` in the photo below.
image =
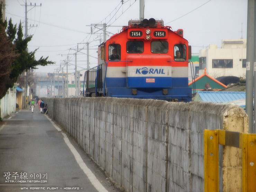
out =
{"type": "Polygon", "coordinates": [[[243,192],[256,191],[256,134],[204,130],[204,192],[219,191],[219,144],[242,149],[243,192]]]}

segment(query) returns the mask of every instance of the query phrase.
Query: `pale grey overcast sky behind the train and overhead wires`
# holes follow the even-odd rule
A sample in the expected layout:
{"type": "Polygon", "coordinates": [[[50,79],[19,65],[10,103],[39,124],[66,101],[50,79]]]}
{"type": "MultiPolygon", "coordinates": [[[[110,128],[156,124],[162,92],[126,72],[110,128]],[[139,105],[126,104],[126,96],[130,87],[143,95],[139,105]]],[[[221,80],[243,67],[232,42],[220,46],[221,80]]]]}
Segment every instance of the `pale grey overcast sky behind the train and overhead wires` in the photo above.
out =
{"type": "MultiPolygon", "coordinates": [[[[124,4],[121,0],[27,0],[27,4],[28,34],[33,35],[28,49],[39,48],[37,59],[49,56],[50,61],[56,62],[38,67],[36,72],[56,71],[60,65],[64,66],[67,54],[68,72],[73,72],[77,44],[79,50],[84,47],[77,56],[77,69],[86,68],[87,42],[90,43],[90,67],[96,66],[96,49],[103,35],[90,25],[110,24],[113,27],[107,31],[111,36],[127,25],[128,20],[139,19],[139,0],[124,0],[124,4]],[[91,29],[98,32],[90,34],[91,29]]],[[[25,34],[25,0],[6,0],[6,17],[17,25],[21,20],[25,34]]],[[[163,19],[173,30],[183,29],[192,53],[198,53],[209,44],[220,48],[221,39],[239,39],[242,34],[246,38],[247,0],[145,0],[144,18],[163,19]]]]}

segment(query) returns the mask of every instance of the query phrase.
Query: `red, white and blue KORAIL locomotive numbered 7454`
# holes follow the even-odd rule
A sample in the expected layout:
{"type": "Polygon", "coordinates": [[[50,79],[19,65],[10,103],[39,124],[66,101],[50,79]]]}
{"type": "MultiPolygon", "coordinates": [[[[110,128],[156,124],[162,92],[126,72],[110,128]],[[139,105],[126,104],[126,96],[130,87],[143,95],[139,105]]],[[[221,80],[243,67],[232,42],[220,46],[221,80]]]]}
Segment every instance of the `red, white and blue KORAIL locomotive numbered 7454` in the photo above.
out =
{"type": "Polygon", "coordinates": [[[182,29],[153,18],[130,20],[98,47],[98,66],[84,75],[84,96],[189,102],[190,57],[182,29]]]}

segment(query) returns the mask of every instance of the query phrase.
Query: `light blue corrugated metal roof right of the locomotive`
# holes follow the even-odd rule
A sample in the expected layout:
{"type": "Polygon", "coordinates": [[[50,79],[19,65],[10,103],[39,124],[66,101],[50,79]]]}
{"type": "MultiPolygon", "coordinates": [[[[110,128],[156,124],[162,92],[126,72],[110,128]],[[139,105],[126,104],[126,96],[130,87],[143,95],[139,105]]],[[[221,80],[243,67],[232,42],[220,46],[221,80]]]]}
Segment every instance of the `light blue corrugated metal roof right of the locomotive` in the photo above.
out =
{"type": "Polygon", "coordinates": [[[198,91],[197,94],[204,102],[223,103],[245,99],[245,92],[198,91]]]}

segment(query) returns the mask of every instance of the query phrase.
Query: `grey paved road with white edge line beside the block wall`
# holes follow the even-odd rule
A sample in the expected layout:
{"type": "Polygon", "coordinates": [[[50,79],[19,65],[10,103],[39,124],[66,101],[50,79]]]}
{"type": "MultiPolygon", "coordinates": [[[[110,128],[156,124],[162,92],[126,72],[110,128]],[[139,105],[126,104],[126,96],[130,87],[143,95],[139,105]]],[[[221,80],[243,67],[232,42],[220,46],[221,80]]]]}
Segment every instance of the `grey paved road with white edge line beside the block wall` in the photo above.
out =
{"type": "Polygon", "coordinates": [[[38,107],[34,113],[20,110],[4,123],[0,124],[1,192],[118,191],[74,140],[57,130],[38,107]],[[77,163],[80,156],[83,161],[77,163]]]}

